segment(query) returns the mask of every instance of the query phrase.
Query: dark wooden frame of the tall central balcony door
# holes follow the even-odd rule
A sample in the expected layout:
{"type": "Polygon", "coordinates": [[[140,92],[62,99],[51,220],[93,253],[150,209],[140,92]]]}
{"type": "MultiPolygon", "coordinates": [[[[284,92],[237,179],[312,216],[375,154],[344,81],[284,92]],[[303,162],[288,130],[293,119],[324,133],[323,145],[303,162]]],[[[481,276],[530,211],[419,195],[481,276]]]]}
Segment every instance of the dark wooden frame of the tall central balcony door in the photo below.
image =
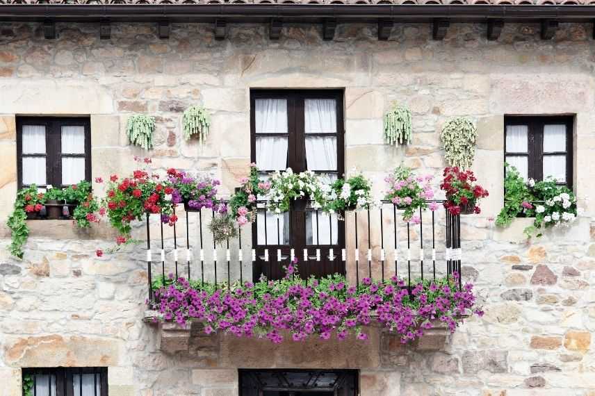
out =
{"type": "MultiPolygon", "coordinates": [[[[306,157],[306,135],[308,136],[336,136],[337,147],[337,170],[328,172],[329,170],[317,170],[320,174],[336,174],[341,177],[345,173],[345,128],[343,118],[343,90],[268,90],[268,89],[254,89],[250,91],[250,151],[251,160],[256,162],[256,135],[258,136],[274,136],[288,138],[288,159],[287,167],[291,167],[294,172],[303,172],[307,169],[306,157]],[[288,133],[258,133],[256,134],[256,115],[255,115],[255,101],[256,99],[286,99],[287,100],[287,117],[288,117],[288,133]],[[335,99],[336,100],[336,133],[308,133],[305,129],[304,117],[304,99],[335,99]]],[[[272,170],[261,170],[262,172],[272,172],[272,170]]],[[[293,204],[292,204],[293,205],[293,204]]],[[[300,274],[309,276],[314,274],[316,276],[323,276],[323,273],[318,273],[316,267],[327,267],[318,263],[318,265],[309,265],[309,263],[302,263],[302,250],[304,248],[313,249],[327,249],[332,247],[335,251],[340,252],[342,247],[345,247],[345,227],[343,222],[338,224],[338,235],[336,245],[307,245],[306,243],[306,221],[303,212],[291,211],[289,218],[289,238],[288,245],[258,245],[256,231],[256,224],[252,225],[252,243],[254,247],[267,248],[270,252],[275,252],[277,249],[284,249],[284,255],[288,254],[289,247],[295,249],[295,254],[300,258],[300,274]]],[[[271,261],[275,259],[271,255],[271,261]]],[[[334,272],[344,273],[344,263],[341,262],[340,257],[332,260],[332,263],[327,269],[334,272]]],[[[260,274],[265,273],[269,279],[276,279],[282,275],[282,268],[264,268],[259,263],[253,267],[254,279],[259,279],[260,274]],[[268,271],[268,272],[267,272],[268,271]]]]}

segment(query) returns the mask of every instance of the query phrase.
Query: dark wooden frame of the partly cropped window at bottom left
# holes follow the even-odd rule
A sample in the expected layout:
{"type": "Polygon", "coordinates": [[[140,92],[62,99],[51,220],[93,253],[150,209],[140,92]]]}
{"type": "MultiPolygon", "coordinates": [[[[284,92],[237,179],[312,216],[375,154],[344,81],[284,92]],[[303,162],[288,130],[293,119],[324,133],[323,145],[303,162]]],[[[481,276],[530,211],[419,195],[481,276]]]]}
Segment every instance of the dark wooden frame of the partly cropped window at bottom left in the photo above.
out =
{"type": "MultiPolygon", "coordinates": [[[[80,391],[74,390],[73,376],[76,374],[99,374],[95,377],[101,383],[101,392],[95,396],[108,396],[108,368],[106,367],[84,367],[84,368],[23,368],[22,375],[50,374],[56,376],[56,396],[79,396],[80,391]]],[[[81,377],[82,378],[82,377],[81,377]]],[[[34,382],[35,384],[35,382],[34,382]]],[[[82,385],[82,381],[81,381],[82,385]]],[[[95,387],[97,388],[97,386],[95,387]]],[[[35,385],[33,385],[35,390],[35,385]]],[[[33,391],[34,396],[37,395],[33,391]]],[[[24,390],[23,390],[24,396],[24,390]]]]}

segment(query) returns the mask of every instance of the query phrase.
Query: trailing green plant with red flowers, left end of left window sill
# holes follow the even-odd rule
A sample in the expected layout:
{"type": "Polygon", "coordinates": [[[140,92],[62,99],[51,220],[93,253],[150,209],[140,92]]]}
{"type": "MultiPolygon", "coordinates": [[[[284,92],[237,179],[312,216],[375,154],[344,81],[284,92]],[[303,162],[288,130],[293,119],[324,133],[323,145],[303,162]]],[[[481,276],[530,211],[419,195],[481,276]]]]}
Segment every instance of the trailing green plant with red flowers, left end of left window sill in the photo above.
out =
{"type": "Polygon", "coordinates": [[[23,258],[23,245],[29,235],[29,228],[25,221],[27,213],[39,213],[44,203],[45,197],[43,193],[38,192],[35,184],[17,192],[13,213],[10,214],[6,222],[12,235],[8,249],[13,256],[23,258]]]}

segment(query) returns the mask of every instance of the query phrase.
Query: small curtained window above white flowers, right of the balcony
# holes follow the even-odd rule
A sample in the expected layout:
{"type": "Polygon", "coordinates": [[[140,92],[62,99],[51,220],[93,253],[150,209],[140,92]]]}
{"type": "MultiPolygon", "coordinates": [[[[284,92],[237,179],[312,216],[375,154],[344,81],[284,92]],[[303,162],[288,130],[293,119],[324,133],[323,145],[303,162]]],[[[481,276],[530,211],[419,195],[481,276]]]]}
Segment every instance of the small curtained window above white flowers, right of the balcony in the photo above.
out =
{"type": "Polygon", "coordinates": [[[526,179],[572,188],[573,117],[505,117],[505,161],[526,179]]]}

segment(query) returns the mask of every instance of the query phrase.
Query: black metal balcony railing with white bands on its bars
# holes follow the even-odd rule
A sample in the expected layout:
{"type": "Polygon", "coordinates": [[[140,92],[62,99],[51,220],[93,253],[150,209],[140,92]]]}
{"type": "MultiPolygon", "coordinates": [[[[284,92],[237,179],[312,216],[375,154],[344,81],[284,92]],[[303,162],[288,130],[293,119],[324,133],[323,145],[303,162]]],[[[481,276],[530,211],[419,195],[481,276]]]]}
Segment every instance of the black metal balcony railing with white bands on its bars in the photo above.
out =
{"type": "Polygon", "coordinates": [[[240,227],[237,238],[220,245],[209,231],[215,216],[211,210],[179,209],[180,219],[174,226],[147,214],[149,299],[158,277],[186,277],[230,287],[236,281],[256,281],[261,274],[279,278],[293,258],[298,259],[302,274],[320,277],[338,272],[356,285],[364,277],[384,281],[396,275],[410,286],[414,279],[461,272],[460,218],[442,205],[436,211],[420,210],[415,223],[405,222],[402,211],[389,201],[339,215],[313,208],[275,215],[266,210],[266,203],[259,204],[258,211],[252,226],[240,227]],[[293,238],[295,229],[311,231],[309,236],[293,238]]]}

